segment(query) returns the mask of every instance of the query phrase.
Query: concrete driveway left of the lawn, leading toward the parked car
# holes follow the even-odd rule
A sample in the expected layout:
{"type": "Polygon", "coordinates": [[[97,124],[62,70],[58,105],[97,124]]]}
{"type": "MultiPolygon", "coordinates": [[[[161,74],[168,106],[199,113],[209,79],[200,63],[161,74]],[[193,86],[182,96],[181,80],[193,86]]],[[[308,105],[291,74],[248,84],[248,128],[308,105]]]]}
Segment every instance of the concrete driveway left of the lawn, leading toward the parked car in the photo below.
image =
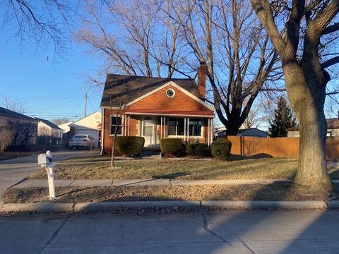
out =
{"type": "MultiPolygon", "coordinates": [[[[99,154],[99,150],[65,150],[52,152],[54,162],[71,157],[85,157],[99,154]]],[[[0,200],[7,188],[25,179],[32,171],[40,169],[37,164],[37,155],[18,157],[0,161],[0,200]]]]}

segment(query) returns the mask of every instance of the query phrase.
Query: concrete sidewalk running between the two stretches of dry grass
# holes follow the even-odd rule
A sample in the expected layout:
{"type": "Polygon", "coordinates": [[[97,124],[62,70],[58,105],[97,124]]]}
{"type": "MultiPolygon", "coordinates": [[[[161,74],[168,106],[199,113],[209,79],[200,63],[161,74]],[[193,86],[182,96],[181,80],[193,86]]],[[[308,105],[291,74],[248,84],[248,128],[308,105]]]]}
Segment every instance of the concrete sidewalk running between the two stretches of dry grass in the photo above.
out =
{"type": "MultiPolygon", "coordinates": [[[[79,179],[55,180],[55,187],[104,187],[104,186],[204,186],[288,183],[290,180],[171,180],[171,179],[79,179]]],[[[333,180],[339,183],[339,180],[333,180]]],[[[47,179],[24,180],[11,188],[48,187],[47,179]]]]}

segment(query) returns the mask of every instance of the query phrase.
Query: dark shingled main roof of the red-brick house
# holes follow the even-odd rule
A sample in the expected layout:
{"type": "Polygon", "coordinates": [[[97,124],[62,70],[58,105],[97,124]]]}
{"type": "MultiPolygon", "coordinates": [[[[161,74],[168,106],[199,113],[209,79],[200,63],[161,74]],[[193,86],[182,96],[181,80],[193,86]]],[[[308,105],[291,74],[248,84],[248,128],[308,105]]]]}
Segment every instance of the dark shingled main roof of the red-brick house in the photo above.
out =
{"type": "Polygon", "coordinates": [[[196,82],[191,78],[150,78],[131,75],[107,74],[100,107],[119,107],[132,102],[170,81],[201,98],[196,82]]]}

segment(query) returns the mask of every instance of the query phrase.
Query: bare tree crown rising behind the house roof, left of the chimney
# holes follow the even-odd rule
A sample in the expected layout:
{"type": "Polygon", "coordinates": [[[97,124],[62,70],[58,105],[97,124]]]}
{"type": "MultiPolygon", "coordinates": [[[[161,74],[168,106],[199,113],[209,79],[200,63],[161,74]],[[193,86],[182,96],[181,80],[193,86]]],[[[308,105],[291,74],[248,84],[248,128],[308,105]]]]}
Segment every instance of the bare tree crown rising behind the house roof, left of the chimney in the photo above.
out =
{"type": "Polygon", "coordinates": [[[179,25],[160,16],[155,1],[104,3],[86,2],[83,27],[76,36],[105,59],[103,71],[172,77],[181,63],[179,25]]]}

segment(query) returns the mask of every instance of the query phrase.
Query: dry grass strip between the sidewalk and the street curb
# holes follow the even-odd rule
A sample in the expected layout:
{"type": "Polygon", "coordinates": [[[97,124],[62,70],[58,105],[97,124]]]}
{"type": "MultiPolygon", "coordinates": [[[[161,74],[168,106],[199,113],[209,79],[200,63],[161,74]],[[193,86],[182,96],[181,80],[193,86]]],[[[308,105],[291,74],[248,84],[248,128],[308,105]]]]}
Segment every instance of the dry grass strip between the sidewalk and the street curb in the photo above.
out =
{"type": "MultiPolygon", "coordinates": [[[[338,186],[336,186],[338,190],[338,186]]],[[[47,188],[13,188],[4,202],[107,202],[136,200],[324,200],[321,195],[298,193],[290,183],[242,186],[138,186],[57,188],[50,201],[47,188]]]]}

